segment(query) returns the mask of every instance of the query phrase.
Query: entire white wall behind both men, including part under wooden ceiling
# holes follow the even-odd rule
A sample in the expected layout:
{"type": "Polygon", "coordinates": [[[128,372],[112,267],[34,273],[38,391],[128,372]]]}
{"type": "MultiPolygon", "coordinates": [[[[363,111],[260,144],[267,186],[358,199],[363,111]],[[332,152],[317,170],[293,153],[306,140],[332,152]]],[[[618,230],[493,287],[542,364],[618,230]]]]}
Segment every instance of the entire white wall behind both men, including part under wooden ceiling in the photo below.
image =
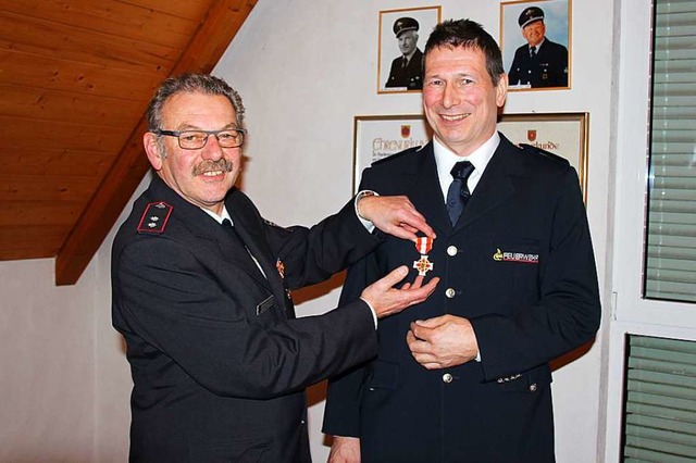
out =
{"type": "MultiPolygon", "coordinates": [[[[444,18],[471,17],[499,36],[500,1],[257,3],[215,74],[240,91],[248,108],[243,186],[268,218],[309,224],[348,199],[355,115],[421,111],[418,93],[376,95],[377,21],[380,10],[428,5],[442,5],[444,18]]],[[[600,285],[610,288],[612,2],[575,0],[572,18],[573,89],[510,95],[506,112],[591,113],[588,216],[600,285]]],[[[421,33],[421,43],[426,36],[421,33]]],[[[0,263],[0,461],[126,461],[132,384],[121,337],[111,327],[112,237],[73,287],[53,286],[53,261],[0,263]]],[[[339,283],[297,293],[318,297],[298,311],[333,308],[339,283]]],[[[601,461],[595,455],[605,433],[606,331],[586,355],[555,373],[560,463],[601,461]]],[[[320,433],[323,386],[310,397],[316,402],[310,410],[312,451],[322,462],[328,453],[320,433]]]]}

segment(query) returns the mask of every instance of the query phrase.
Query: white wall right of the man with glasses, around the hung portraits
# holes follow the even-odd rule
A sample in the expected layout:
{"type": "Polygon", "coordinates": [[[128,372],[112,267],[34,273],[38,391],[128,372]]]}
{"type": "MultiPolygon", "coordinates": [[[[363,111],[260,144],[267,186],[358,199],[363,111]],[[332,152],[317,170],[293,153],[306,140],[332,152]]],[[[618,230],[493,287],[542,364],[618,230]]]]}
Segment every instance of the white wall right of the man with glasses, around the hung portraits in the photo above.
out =
{"type": "MultiPolygon", "coordinates": [[[[499,1],[402,0],[341,2],[261,0],[215,74],[245,99],[250,158],[245,190],[265,216],[283,225],[312,223],[351,192],[355,115],[413,114],[419,93],[377,95],[381,10],[442,5],[443,18],[471,17],[499,37],[499,1]]],[[[613,4],[572,4],[572,90],[514,92],[507,113],[589,112],[588,205],[600,286],[607,287],[613,4]]],[[[421,32],[424,43],[427,32],[421,32]]],[[[338,291],[301,304],[299,313],[335,305],[338,291]]],[[[607,300],[607,298],[604,298],[607,300]]],[[[606,325],[606,323],[605,323],[606,325]]],[[[602,334],[593,349],[554,375],[559,462],[597,461],[602,334]]],[[[312,397],[322,396],[322,387],[312,397]]],[[[312,451],[324,461],[323,402],[310,411],[312,451]]]]}

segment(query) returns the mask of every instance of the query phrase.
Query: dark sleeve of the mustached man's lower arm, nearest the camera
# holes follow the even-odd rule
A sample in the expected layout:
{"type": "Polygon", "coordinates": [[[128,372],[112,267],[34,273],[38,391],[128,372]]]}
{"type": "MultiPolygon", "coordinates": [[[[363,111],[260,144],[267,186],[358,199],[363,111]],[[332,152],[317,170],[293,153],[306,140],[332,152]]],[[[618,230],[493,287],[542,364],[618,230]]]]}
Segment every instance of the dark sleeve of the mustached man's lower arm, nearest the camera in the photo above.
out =
{"type": "Polygon", "coordinates": [[[136,239],[114,259],[114,324],[128,340],[134,375],[148,374],[141,362],[161,362],[162,387],[182,380],[174,363],[216,395],[266,399],[376,353],[374,322],[360,300],[321,316],[286,321],[277,306],[257,316],[269,290],[234,266],[212,273],[182,241],[136,239]]]}

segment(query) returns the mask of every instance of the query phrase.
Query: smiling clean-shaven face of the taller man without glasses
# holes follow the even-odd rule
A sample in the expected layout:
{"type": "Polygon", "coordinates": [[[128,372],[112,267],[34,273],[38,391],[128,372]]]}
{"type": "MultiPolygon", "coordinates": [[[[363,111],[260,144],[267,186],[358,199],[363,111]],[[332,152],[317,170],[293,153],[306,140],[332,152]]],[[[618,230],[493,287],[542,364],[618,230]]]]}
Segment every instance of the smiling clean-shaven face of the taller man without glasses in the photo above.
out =
{"type": "Polygon", "coordinates": [[[478,48],[439,47],[425,58],[425,116],[438,141],[459,155],[471,154],[494,134],[507,89],[506,74],[494,86],[478,48]]]}

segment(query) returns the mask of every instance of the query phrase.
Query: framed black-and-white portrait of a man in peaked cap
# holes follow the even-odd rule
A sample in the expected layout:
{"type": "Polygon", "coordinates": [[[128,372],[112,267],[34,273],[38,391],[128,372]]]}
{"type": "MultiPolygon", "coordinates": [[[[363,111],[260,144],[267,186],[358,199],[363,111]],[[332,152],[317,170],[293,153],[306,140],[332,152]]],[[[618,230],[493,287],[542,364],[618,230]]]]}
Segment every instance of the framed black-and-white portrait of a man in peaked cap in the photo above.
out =
{"type": "Polygon", "coordinates": [[[423,47],[440,14],[440,7],[380,12],[377,93],[422,91],[423,47]]]}

